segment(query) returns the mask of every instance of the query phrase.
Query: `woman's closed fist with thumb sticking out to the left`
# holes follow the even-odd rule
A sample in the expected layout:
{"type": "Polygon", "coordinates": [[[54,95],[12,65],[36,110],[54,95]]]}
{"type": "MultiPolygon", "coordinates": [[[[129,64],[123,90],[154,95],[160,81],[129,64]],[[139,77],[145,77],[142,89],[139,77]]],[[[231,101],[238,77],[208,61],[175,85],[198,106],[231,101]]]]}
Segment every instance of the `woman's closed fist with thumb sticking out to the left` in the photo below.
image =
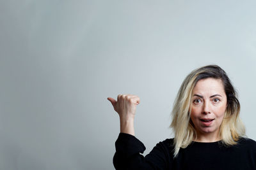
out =
{"type": "Polygon", "coordinates": [[[125,119],[134,118],[136,106],[140,104],[140,97],[132,94],[120,94],[117,96],[117,101],[111,97],[108,97],[108,100],[119,117],[125,119]]]}

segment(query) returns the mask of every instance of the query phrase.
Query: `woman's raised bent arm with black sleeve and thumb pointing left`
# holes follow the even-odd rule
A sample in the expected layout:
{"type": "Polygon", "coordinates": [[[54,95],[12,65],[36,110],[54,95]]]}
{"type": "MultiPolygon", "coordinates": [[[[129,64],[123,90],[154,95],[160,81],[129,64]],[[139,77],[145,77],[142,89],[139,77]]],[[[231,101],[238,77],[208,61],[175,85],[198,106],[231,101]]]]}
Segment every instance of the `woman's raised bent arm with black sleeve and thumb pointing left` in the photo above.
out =
{"type": "Polygon", "coordinates": [[[167,169],[170,166],[170,149],[163,142],[158,143],[144,157],[140,153],[145,146],[134,136],[134,117],[140,98],[131,94],[118,95],[117,101],[111,97],[108,100],[120,117],[120,134],[116,140],[116,152],[113,164],[116,169],[167,169]]]}

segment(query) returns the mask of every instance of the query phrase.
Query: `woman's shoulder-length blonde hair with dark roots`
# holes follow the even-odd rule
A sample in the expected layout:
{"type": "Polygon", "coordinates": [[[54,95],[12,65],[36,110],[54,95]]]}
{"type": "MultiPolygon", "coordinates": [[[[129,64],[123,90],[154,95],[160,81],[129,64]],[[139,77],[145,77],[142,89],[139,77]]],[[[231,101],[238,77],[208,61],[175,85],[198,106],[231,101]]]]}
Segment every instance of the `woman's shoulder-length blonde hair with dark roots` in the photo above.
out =
{"type": "Polygon", "coordinates": [[[180,148],[186,148],[193,139],[196,139],[196,130],[190,119],[189,108],[196,83],[205,78],[220,79],[227,96],[227,109],[220,125],[221,143],[225,146],[236,145],[239,138],[245,135],[245,127],[239,118],[240,103],[237,99],[237,92],[227,74],[216,65],[200,67],[185,78],[173,104],[170,127],[175,135],[173,143],[174,157],[178,155],[180,148]]]}

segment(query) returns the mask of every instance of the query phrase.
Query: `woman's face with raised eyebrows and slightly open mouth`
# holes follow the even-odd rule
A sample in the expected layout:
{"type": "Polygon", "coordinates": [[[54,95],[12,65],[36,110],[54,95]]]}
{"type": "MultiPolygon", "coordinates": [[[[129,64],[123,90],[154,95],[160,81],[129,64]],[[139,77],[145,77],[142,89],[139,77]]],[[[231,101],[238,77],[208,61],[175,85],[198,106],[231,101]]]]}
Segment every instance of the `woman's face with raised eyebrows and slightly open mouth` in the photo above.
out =
{"type": "Polygon", "coordinates": [[[190,117],[198,139],[205,136],[218,138],[226,106],[227,96],[220,79],[206,78],[196,83],[192,94],[190,117]]]}

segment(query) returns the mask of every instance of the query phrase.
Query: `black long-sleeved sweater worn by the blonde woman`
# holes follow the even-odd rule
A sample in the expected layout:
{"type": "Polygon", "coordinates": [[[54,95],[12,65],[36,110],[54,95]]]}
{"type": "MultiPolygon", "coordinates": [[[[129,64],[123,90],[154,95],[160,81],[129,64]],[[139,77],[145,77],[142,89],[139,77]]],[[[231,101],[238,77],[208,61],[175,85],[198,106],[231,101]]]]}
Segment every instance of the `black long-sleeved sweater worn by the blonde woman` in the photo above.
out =
{"type": "Polygon", "coordinates": [[[173,139],[157,143],[145,157],[145,146],[130,134],[120,133],[115,143],[113,164],[116,169],[256,169],[256,142],[241,138],[237,145],[226,147],[220,142],[192,142],[180,148],[173,158],[173,139]]]}

